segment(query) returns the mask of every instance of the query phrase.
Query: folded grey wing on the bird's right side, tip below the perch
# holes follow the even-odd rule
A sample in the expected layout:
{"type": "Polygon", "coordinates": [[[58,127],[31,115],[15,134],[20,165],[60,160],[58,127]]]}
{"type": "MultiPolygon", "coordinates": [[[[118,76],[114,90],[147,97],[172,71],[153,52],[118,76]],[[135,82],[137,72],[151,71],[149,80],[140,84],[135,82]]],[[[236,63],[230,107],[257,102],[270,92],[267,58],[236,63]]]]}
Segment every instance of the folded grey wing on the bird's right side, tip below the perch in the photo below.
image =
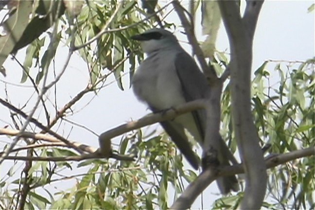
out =
{"type": "MultiPolygon", "coordinates": [[[[209,91],[209,85],[205,75],[199,70],[192,57],[186,52],[177,53],[175,56],[175,68],[186,102],[204,98],[207,91],[209,91]]],[[[206,112],[199,109],[193,111],[192,116],[202,141],[204,141],[206,112]]]]}

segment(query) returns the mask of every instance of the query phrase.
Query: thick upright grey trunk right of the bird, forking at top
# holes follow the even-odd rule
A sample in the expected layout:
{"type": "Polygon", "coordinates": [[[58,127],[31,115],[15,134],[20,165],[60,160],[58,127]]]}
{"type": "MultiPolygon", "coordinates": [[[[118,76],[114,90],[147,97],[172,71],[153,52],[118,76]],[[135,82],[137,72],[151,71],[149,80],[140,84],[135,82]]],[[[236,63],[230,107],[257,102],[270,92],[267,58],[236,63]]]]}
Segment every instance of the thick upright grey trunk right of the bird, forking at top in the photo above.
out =
{"type": "Polygon", "coordinates": [[[231,51],[229,69],[233,127],[246,172],[241,209],[260,209],[266,192],[267,175],[250,109],[250,75],[253,35],[263,1],[247,1],[244,18],[241,18],[235,1],[218,3],[231,51]]]}

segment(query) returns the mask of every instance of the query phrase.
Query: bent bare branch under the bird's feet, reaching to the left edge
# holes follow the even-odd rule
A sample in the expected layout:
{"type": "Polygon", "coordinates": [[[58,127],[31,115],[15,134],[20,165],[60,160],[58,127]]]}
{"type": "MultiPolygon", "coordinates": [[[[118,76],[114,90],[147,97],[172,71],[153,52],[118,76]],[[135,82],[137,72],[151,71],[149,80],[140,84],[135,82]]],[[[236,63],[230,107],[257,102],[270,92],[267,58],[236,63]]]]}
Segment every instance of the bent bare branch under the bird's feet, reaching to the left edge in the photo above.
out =
{"type": "MultiPolygon", "coordinates": [[[[1,99],[0,99],[0,103],[2,103],[1,99]]],[[[23,111],[17,109],[16,107],[14,107],[13,105],[10,105],[8,103],[4,103],[4,105],[8,105],[8,107],[10,107],[12,110],[18,112],[19,114],[21,114],[21,116],[25,117],[24,115],[26,115],[23,111]]],[[[68,145],[70,148],[73,148],[75,150],[80,150],[80,151],[84,151],[84,152],[88,152],[90,154],[88,155],[83,155],[83,157],[70,157],[72,158],[71,160],[81,160],[82,158],[97,158],[97,157],[112,157],[112,158],[116,158],[116,159],[127,159],[130,160],[132,157],[125,157],[123,155],[119,155],[119,154],[113,154],[111,151],[111,142],[110,140],[114,137],[117,137],[119,135],[122,135],[128,131],[131,130],[135,130],[138,129],[140,127],[146,126],[146,125],[150,125],[153,123],[158,123],[161,121],[165,121],[165,120],[171,120],[173,118],[175,118],[176,116],[180,115],[180,114],[184,114],[186,112],[191,112],[195,109],[201,109],[201,108],[205,108],[206,107],[206,101],[205,100],[196,100],[196,101],[192,101],[183,105],[179,105],[176,106],[175,108],[169,109],[165,112],[160,112],[157,114],[151,114],[148,116],[145,116],[143,118],[141,118],[138,121],[133,121],[130,123],[125,123],[123,125],[120,125],[116,128],[110,129],[104,133],[102,133],[99,136],[99,144],[100,144],[100,149],[96,150],[90,146],[84,145],[82,143],[78,143],[75,141],[70,141],[67,140],[67,143],[65,143],[65,145],[68,145]],[[96,153],[96,154],[92,154],[92,153],[96,153]]],[[[42,125],[41,123],[37,122],[37,120],[33,119],[31,120],[31,122],[35,123],[38,127],[44,129],[46,128],[44,125],[42,125]],[[34,122],[33,122],[34,121],[34,122]]],[[[20,135],[20,137],[25,137],[25,138],[32,138],[32,139],[37,139],[37,140],[46,140],[46,141],[50,141],[50,142],[60,142],[63,141],[64,138],[59,136],[58,134],[55,134],[53,131],[49,131],[49,134],[54,134],[53,137],[44,135],[44,134],[35,134],[35,133],[31,133],[31,132],[22,132],[20,133],[19,131],[15,131],[15,130],[11,130],[11,129],[5,129],[5,128],[0,128],[0,135],[1,134],[5,134],[5,135],[10,135],[10,136],[16,136],[16,135],[20,135]],[[63,140],[62,140],[63,139],[63,140]]],[[[13,158],[13,157],[11,157],[13,158]]],[[[7,158],[5,158],[7,159],[7,158]]],[[[58,159],[58,161],[60,161],[60,159],[58,159]]]]}

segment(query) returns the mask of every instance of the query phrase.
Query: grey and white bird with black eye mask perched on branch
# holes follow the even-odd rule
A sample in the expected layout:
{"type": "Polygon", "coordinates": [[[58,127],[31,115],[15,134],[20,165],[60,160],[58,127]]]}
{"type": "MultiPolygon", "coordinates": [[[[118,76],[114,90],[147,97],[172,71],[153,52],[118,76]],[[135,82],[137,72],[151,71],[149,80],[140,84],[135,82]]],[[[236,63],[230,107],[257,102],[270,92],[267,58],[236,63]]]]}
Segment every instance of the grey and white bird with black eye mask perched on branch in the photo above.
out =
{"type": "MultiPolygon", "coordinates": [[[[131,86],[138,100],[146,103],[152,112],[207,97],[210,86],[205,75],[192,56],[180,46],[175,35],[163,28],[153,28],[133,35],[131,39],[140,41],[142,51],[147,54],[133,75],[131,86]]],[[[160,124],[189,164],[197,170],[200,159],[193,151],[187,131],[195,141],[203,144],[206,111],[198,109],[160,124]]],[[[227,147],[223,140],[222,143],[227,147]]],[[[225,148],[226,151],[229,152],[228,148],[225,148]]],[[[224,164],[229,164],[226,157],[224,164]]],[[[235,176],[220,177],[217,183],[223,194],[238,190],[235,176]]]]}

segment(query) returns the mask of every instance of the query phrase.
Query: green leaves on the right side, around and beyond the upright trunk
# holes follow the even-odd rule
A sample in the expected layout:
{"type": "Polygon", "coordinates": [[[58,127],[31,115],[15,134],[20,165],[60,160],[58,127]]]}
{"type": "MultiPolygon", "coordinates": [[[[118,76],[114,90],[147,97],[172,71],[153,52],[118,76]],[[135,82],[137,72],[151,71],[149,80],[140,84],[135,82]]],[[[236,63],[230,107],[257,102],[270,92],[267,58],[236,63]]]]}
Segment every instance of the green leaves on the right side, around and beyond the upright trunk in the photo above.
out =
{"type": "MultiPolygon", "coordinates": [[[[315,145],[314,65],[314,58],[305,62],[278,63],[270,60],[255,71],[252,80],[253,115],[261,145],[271,144],[267,154],[283,154],[315,145]],[[272,78],[277,74],[280,81],[275,83],[272,78]]],[[[229,94],[227,85],[222,98],[222,134],[230,148],[235,150],[236,142],[230,129],[229,94]]],[[[267,196],[271,201],[265,202],[264,207],[308,209],[314,206],[314,174],[313,157],[297,159],[269,170],[267,196]]],[[[234,207],[240,196],[220,199],[215,207],[234,207]]]]}

